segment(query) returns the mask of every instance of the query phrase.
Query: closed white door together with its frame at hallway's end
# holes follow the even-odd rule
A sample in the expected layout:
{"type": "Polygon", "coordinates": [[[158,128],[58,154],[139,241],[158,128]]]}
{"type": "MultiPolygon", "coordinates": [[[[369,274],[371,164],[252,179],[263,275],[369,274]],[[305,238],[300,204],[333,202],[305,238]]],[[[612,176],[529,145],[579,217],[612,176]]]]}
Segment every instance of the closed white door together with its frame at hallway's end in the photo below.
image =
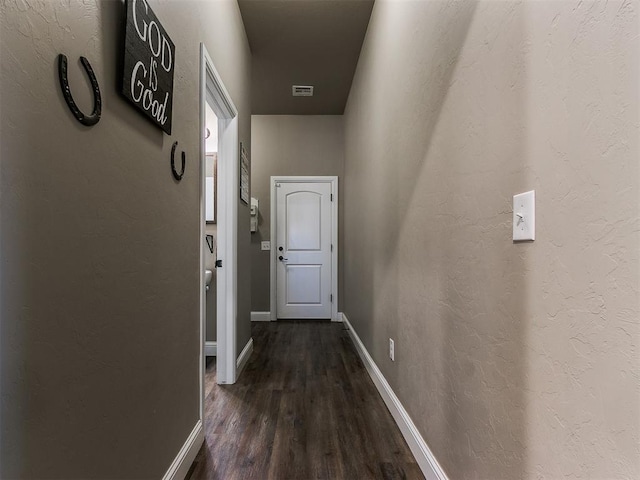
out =
{"type": "Polygon", "coordinates": [[[271,177],[271,320],[338,321],[338,177],[271,177]]]}

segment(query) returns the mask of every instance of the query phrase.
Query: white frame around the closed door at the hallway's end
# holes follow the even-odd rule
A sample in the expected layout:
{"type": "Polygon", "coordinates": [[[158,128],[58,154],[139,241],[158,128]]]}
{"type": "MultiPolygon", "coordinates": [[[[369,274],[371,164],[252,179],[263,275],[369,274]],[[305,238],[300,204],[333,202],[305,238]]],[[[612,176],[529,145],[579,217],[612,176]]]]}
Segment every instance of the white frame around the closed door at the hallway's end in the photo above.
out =
{"type": "Polygon", "coordinates": [[[271,321],[277,320],[277,291],[276,291],[276,262],[278,249],[276,247],[277,232],[277,192],[276,183],[331,183],[331,321],[338,321],[338,177],[271,177],[271,321]]]}

